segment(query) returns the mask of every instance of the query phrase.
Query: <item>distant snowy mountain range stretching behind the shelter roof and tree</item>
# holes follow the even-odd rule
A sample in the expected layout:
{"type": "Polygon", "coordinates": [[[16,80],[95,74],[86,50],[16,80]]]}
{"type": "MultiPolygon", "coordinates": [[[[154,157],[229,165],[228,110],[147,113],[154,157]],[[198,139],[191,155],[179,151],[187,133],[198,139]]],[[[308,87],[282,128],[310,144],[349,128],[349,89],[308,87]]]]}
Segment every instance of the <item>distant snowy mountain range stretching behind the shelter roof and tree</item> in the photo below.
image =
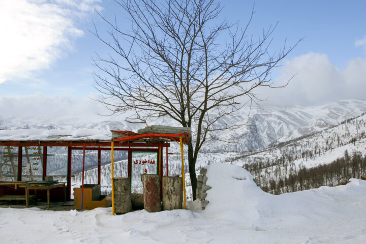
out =
{"type": "MultiPolygon", "coordinates": [[[[241,153],[264,148],[273,142],[288,141],[338,125],[341,121],[363,112],[366,112],[366,100],[343,100],[312,107],[252,107],[251,109],[243,107],[236,112],[235,116],[223,117],[215,125],[216,128],[240,125],[240,128],[217,132],[214,137],[223,141],[207,140],[202,151],[241,153]]],[[[85,121],[85,118],[62,116],[52,118],[0,116],[0,129],[93,129],[109,135],[110,130],[137,131],[144,126],[128,124],[121,120],[107,120],[107,118],[100,116],[94,120],[85,121]]],[[[151,123],[148,121],[148,124],[179,126],[169,118],[151,121],[151,123]]]]}

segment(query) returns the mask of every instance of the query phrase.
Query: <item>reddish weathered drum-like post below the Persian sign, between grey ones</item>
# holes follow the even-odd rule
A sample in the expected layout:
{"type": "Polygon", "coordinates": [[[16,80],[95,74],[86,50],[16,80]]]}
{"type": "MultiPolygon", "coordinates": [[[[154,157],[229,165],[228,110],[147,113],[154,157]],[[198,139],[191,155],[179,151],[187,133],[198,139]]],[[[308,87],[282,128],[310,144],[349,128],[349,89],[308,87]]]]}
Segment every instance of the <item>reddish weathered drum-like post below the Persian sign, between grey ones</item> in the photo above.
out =
{"type": "Polygon", "coordinates": [[[144,189],[144,209],[148,212],[161,211],[160,175],[141,174],[144,189]]]}

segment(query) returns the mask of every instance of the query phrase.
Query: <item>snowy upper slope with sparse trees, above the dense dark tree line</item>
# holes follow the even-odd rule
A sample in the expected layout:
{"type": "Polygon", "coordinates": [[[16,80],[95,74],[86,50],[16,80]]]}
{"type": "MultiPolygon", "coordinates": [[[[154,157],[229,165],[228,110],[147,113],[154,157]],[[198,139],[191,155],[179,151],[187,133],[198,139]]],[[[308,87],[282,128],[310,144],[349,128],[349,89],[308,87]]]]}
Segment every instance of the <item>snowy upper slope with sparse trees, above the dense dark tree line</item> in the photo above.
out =
{"type": "Polygon", "coordinates": [[[252,152],[234,163],[273,162],[284,158],[285,164],[309,168],[331,163],[343,157],[345,150],[366,154],[366,114],[311,136],[252,152]]]}

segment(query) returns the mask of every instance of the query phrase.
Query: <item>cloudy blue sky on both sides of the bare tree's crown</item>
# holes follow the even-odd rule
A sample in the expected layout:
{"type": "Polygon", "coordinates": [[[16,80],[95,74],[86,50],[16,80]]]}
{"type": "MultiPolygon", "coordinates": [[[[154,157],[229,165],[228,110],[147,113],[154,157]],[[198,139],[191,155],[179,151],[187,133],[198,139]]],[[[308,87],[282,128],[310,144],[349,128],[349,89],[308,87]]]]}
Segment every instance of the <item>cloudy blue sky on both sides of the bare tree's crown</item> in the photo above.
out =
{"type": "MultiPolygon", "coordinates": [[[[249,32],[255,37],[279,22],[273,51],[286,39],[293,45],[303,38],[272,73],[279,81],[298,73],[292,84],[260,91],[270,104],[366,98],[366,1],[225,1],[221,17],[245,26],[254,4],[249,32]]],[[[91,57],[108,50],[88,32],[93,21],[100,33],[106,29],[94,9],[107,19],[117,14],[119,25],[129,29],[129,20],[112,0],[2,0],[0,97],[98,96],[91,57]]]]}

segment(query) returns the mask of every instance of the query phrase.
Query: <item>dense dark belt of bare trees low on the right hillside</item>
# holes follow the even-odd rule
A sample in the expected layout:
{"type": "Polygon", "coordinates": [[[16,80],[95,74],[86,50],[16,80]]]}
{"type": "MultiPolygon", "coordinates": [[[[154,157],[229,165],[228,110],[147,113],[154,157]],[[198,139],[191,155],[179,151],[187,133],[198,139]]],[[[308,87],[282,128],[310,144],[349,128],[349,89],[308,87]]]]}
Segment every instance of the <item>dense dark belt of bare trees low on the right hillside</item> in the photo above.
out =
{"type": "Polygon", "coordinates": [[[366,155],[362,156],[359,151],[349,155],[346,150],[343,158],[313,168],[300,166],[297,169],[293,164],[290,167],[281,167],[285,165],[282,162],[277,163],[279,164],[267,165],[260,161],[242,167],[253,174],[263,191],[275,195],[335,186],[366,174],[366,155]]]}

